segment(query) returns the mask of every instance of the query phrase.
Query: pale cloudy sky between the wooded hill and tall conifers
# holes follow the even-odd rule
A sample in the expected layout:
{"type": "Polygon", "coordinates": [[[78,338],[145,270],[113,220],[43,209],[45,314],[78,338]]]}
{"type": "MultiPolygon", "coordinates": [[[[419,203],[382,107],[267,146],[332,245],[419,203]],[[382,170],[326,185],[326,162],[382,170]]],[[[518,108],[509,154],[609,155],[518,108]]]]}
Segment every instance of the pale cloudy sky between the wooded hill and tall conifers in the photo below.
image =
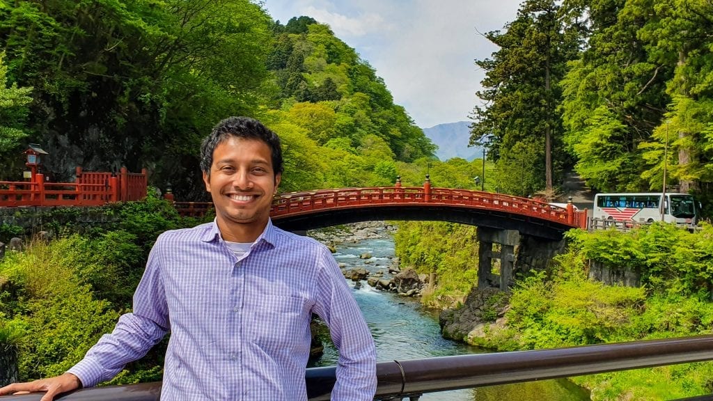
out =
{"type": "Polygon", "coordinates": [[[475,60],[497,47],[520,0],[265,0],[272,19],[311,16],[356,50],[384,79],[417,126],[470,121],[485,73],[475,60]]]}

